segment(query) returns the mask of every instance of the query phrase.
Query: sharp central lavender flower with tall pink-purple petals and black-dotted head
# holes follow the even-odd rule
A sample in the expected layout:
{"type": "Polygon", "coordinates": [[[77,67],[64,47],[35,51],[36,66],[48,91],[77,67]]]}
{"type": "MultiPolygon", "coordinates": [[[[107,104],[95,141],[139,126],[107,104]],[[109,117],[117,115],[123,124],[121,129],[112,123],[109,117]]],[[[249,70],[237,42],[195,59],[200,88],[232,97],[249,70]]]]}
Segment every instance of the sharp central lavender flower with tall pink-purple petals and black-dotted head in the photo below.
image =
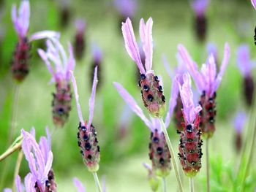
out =
{"type": "Polygon", "coordinates": [[[154,118],[161,118],[165,113],[165,96],[162,94],[162,85],[159,84],[159,79],[152,71],[152,56],[153,56],[153,39],[152,39],[153,20],[149,18],[146,23],[140,20],[140,39],[143,45],[146,61],[145,68],[140,58],[140,50],[135,39],[135,34],[132,28],[132,23],[127,18],[125,23],[122,23],[122,32],[124,36],[125,47],[127,53],[138,66],[140,70],[139,85],[141,88],[142,99],[145,107],[150,115],[154,118]]]}

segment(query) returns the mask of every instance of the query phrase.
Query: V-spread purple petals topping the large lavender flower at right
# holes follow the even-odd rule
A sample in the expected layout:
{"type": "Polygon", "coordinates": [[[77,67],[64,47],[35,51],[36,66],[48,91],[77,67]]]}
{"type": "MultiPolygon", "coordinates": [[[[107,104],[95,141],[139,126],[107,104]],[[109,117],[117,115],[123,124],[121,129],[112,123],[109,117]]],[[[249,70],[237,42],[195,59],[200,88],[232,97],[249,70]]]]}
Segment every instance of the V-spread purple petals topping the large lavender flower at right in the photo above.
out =
{"type": "Polygon", "coordinates": [[[186,64],[189,74],[191,74],[195,80],[197,91],[199,91],[200,94],[205,91],[208,96],[213,96],[214,92],[219,88],[219,84],[230,58],[229,45],[227,43],[225,44],[224,58],[222,60],[222,66],[220,66],[219,74],[217,74],[214,55],[209,55],[206,64],[203,64],[201,71],[198,71],[197,64],[192,60],[183,45],[178,45],[178,52],[181,54],[181,58],[184,60],[184,64],[186,64]]]}

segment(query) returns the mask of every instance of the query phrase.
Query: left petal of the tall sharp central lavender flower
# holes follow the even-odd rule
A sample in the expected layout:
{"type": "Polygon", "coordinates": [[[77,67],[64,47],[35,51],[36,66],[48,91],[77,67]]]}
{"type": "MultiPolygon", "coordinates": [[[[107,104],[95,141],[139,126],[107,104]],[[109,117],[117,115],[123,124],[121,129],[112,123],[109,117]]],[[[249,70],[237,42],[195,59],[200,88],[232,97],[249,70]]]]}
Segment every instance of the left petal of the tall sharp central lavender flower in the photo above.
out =
{"type": "Polygon", "coordinates": [[[146,72],[143,67],[143,64],[141,63],[140,50],[135,39],[135,34],[132,28],[132,22],[131,20],[129,20],[129,18],[127,18],[125,23],[122,23],[121,30],[123,32],[124,43],[127,49],[127,53],[132,58],[132,60],[135,61],[135,63],[137,64],[138,69],[140,69],[140,73],[145,74],[146,72]]]}

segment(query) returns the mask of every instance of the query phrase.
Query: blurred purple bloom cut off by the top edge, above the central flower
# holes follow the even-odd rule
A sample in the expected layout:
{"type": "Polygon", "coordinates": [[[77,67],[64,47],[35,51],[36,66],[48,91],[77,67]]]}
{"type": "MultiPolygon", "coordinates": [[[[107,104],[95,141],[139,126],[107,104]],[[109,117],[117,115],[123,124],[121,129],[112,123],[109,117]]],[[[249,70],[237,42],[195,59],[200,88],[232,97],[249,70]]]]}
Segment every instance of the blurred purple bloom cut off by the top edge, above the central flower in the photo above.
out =
{"type": "Polygon", "coordinates": [[[137,10],[137,0],[114,0],[114,5],[124,18],[133,18],[137,10]]]}

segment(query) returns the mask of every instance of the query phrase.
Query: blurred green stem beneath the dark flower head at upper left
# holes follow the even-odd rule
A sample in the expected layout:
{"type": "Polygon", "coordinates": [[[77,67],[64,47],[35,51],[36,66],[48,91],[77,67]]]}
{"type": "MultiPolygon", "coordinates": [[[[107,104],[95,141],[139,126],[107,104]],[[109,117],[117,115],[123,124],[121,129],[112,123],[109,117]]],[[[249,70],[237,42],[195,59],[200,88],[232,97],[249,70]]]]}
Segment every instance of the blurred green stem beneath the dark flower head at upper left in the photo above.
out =
{"type": "Polygon", "coordinates": [[[12,119],[10,122],[10,133],[8,138],[8,145],[12,142],[12,137],[16,128],[17,112],[18,112],[18,98],[20,93],[20,85],[15,85],[15,96],[12,104],[12,119]]]}

